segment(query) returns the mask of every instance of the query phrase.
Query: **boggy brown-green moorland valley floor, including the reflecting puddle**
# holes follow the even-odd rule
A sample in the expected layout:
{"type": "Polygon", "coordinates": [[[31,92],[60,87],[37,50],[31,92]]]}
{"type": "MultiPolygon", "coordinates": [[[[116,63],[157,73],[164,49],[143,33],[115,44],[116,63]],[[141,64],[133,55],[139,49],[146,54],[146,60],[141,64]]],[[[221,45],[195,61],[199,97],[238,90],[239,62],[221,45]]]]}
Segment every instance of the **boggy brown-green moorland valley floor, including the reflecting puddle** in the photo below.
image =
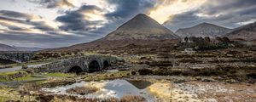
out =
{"type": "Polygon", "coordinates": [[[95,73],[34,72],[30,68],[0,73],[0,101],[256,101],[255,51],[117,54],[125,62],[95,73]],[[128,87],[131,90],[123,90],[128,87]],[[111,97],[102,97],[104,93],[111,97]]]}

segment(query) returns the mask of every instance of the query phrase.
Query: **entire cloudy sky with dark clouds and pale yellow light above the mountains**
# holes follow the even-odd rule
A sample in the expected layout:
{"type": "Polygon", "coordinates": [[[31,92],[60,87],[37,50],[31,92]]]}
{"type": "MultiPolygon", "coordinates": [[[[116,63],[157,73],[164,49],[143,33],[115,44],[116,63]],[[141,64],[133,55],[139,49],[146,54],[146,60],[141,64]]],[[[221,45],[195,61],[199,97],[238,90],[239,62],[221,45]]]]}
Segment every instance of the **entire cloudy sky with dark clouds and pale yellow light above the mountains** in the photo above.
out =
{"type": "Polygon", "coordinates": [[[106,36],[136,14],[172,31],[256,21],[256,0],[0,0],[0,43],[55,48],[106,36]]]}

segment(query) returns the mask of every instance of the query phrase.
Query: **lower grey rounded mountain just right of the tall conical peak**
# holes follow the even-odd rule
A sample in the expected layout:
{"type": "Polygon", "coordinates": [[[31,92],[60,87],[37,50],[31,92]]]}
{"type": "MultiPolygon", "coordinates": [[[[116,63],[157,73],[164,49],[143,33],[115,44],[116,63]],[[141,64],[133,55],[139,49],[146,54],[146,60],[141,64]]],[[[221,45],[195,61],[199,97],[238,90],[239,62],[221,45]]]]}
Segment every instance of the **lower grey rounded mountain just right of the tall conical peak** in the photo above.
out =
{"type": "Polygon", "coordinates": [[[179,37],[221,37],[230,31],[232,30],[222,26],[201,23],[197,26],[179,29],[175,33],[179,37]]]}

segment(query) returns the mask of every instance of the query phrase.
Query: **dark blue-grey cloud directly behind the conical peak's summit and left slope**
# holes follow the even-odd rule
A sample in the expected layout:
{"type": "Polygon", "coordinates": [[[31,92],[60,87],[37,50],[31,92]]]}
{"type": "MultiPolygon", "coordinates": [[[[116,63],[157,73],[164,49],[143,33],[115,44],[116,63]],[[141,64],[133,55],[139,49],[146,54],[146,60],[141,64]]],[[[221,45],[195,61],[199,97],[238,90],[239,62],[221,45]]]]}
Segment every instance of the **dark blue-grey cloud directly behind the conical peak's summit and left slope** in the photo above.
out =
{"type": "Polygon", "coordinates": [[[114,31],[118,26],[131,20],[137,14],[147,14],[150,8],[154,7],[156,0],[108,0],[108,3],[114,4],[116,9],[105,14],[108,23],[98,31],[105,31],[105,35],[114,31]]]}

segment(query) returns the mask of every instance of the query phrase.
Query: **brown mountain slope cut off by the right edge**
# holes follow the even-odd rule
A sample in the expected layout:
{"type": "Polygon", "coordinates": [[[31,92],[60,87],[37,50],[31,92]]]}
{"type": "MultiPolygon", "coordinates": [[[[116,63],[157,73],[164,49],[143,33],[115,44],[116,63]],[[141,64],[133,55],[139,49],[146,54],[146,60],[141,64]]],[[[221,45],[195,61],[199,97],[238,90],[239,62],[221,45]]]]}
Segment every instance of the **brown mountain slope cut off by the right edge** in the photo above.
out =
{"type": "Polygon", "coordinates": [[[234,31],[224,35],[230,39],[243,39],[246,41],[256,40],[256,22],[236,28],[234,31]]]}

